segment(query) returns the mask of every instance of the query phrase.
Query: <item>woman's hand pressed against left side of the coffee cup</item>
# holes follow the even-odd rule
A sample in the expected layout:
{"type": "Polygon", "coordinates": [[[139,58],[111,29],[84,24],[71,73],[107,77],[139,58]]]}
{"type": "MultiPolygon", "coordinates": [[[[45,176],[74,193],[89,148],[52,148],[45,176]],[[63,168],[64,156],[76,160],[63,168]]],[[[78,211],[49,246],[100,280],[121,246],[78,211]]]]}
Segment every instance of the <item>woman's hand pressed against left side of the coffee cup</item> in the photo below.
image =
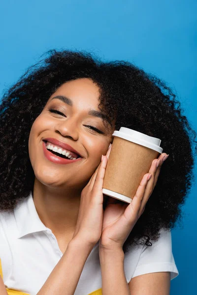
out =
{"type": "Polygon", "coordinates": [[[97,170],[81,192],[78,219],[72,240],[79,240],[94,247],[99,241],[103,221],[103,179],[107,160],[111,151],[100,162],[97,170]]]}

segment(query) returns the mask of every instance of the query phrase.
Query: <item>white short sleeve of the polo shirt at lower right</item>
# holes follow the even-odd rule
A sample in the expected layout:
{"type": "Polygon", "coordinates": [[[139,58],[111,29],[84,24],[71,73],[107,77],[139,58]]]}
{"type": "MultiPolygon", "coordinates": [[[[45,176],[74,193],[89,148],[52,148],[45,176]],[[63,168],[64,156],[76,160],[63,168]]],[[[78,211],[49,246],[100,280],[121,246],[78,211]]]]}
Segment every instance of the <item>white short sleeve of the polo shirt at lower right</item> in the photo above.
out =
{"type": "Polygon", "coordinates": [[[138,275],[160,271],[169,271],[170,280],[179,274],[172,254],[170,230],[162,229],[158,241],[153,241],[152,246],[145,246],[141,252],[132,278],[138,275]]]}

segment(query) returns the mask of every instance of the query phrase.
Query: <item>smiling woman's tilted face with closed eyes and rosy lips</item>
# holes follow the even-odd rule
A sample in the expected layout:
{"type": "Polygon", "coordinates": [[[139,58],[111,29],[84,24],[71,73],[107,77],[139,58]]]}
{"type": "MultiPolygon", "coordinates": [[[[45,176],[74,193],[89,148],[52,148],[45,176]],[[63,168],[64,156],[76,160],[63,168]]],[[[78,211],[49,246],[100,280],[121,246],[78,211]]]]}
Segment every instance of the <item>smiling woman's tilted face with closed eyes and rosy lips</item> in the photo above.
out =
{"type": "Polygon", "coordinates": [[[115,130],[114,122],[109,130],[103,124],[98,99],[99,87],[87,78],[66,82],[51,95],[29,137],[38,181],[63,189],[87,184],[115,130]]]}

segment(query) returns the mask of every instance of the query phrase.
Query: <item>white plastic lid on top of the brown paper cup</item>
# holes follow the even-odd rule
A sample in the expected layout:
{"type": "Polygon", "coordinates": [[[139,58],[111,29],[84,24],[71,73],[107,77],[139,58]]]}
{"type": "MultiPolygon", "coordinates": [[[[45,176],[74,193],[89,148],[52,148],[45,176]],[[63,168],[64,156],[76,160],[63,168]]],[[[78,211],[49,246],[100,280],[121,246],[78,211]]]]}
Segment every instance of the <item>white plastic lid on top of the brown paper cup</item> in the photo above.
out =
{"type": "Polygon", "coordinates": [[[115,130],[112,136],[121,137],[135,144],[157,150],[160,153],[163,152],[163,148],[160,147],[161,140],[159,138],[148,136],[130,128],[121,127],[119,131],[115,130]]]}

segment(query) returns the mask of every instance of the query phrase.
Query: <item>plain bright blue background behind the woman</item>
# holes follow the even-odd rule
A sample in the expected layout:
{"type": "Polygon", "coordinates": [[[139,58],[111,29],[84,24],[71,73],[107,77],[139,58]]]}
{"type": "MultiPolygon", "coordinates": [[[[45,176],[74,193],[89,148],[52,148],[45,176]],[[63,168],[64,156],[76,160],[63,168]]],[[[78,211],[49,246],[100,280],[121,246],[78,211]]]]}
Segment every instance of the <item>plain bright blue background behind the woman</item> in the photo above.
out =
{"type": "MultiPolygon", "coordinates": [[[[1,0],[0,44],[0,94],[43,52],[87,50],[129,60],[167,81],[197,130],[196,0],[1,0]]],[[[196,194],[194,183],[172,230],[179,276],[171,295],[196,293],[196,194]]]]}

